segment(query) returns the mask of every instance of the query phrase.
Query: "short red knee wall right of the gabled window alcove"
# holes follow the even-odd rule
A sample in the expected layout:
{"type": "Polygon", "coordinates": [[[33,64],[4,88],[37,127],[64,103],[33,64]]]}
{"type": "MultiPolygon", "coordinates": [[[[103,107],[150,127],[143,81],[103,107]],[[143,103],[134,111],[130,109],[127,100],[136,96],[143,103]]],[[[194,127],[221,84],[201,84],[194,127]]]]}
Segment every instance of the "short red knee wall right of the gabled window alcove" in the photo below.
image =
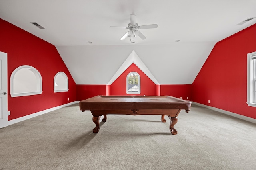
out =
{"type": "Polygon", "coordinates": [[[170,95],[184,100],[191,100],[191,84],[182,85],[161,85],[161,95],[170,95]],[[187,99],[188,98],[188,99],[187,99]]]}

